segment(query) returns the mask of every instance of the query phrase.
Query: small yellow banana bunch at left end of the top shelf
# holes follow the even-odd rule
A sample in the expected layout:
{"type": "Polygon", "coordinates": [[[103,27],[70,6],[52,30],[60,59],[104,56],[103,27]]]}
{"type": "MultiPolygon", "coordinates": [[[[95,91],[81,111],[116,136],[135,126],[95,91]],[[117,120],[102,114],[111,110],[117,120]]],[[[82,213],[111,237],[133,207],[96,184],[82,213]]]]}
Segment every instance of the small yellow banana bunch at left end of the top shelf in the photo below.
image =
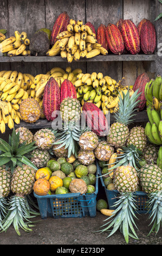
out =
{"type": "Polygon", "coordinates": [[[27,33],[19,33],[15,31],[15,36],[10,36],[10,38],[4,39],[0,43],[0,52],[5,56],[28,56],[30,55],[30,50],[27,46],[30,44],[30,40],[27,38],[27,33]]]}

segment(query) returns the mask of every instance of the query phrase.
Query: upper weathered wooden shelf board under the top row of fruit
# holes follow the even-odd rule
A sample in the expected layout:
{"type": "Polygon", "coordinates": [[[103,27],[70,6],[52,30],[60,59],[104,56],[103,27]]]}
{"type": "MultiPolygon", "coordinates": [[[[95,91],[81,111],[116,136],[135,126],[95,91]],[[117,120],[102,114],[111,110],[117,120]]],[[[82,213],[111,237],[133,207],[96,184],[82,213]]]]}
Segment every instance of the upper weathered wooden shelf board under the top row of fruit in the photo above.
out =
{"type": "MultiPolygon", "coordinates": [[[[115,55],[115,54],[108,54],[107,56],[99,55],[90,59],[81,58],[79,62],[141,62],[141,61],[154,61],[156,59],[156,54],[122,54],[122,55],[115,55]]],[[[62,59],[61,56],[15,56],[15,57],[8,57],[2,56],[0,57],[0,62],[66,62],[66,60],[62,59]]],[[[75,62],[75,60],[73,60],[75,62]]]]}

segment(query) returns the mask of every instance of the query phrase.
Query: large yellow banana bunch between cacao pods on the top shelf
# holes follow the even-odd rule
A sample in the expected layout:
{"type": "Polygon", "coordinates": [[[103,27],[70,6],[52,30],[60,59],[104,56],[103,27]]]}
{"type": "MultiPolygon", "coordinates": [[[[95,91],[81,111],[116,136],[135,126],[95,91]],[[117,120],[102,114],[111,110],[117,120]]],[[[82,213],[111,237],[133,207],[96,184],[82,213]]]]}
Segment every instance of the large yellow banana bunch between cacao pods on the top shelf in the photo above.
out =
{"type": "Polygon", "coordinates": [[[92,58],[99,54],[108,54],[107,50],[98,44],[92,28],[84,25],[81,20],[76,22],[71,19],[67,25],[67,31],[61,32],[56,39],[54,46],[49,49],[46,56],[60,54],[68,63],[73,60],[77,62],[83,57],[92,58]]]}

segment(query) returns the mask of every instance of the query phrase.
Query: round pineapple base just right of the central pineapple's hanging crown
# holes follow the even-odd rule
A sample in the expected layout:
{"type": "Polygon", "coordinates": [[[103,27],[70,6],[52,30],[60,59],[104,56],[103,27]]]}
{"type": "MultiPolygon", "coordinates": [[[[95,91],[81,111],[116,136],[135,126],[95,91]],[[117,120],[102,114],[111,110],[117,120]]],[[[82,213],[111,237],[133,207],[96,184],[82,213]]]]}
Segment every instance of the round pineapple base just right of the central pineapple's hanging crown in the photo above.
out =
{"type": "Polygon", "coordinates": [[[83,150],[94,150],[98,143],[98,136],[93,131],[83,132],[79,138],[79,145],[83,150]]]}

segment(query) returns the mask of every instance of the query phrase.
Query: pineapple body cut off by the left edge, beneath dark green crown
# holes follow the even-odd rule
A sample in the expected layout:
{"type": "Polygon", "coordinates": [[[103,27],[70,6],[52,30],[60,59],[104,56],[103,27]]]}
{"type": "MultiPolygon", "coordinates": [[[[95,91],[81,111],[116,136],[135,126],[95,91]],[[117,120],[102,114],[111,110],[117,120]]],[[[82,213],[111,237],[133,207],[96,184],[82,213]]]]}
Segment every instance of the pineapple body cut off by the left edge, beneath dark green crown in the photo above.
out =
{"type": "Polygon", "coordinates": [[[0,170],[0,197],[7,197],[10,193],[11,173],[0,170]]]}

